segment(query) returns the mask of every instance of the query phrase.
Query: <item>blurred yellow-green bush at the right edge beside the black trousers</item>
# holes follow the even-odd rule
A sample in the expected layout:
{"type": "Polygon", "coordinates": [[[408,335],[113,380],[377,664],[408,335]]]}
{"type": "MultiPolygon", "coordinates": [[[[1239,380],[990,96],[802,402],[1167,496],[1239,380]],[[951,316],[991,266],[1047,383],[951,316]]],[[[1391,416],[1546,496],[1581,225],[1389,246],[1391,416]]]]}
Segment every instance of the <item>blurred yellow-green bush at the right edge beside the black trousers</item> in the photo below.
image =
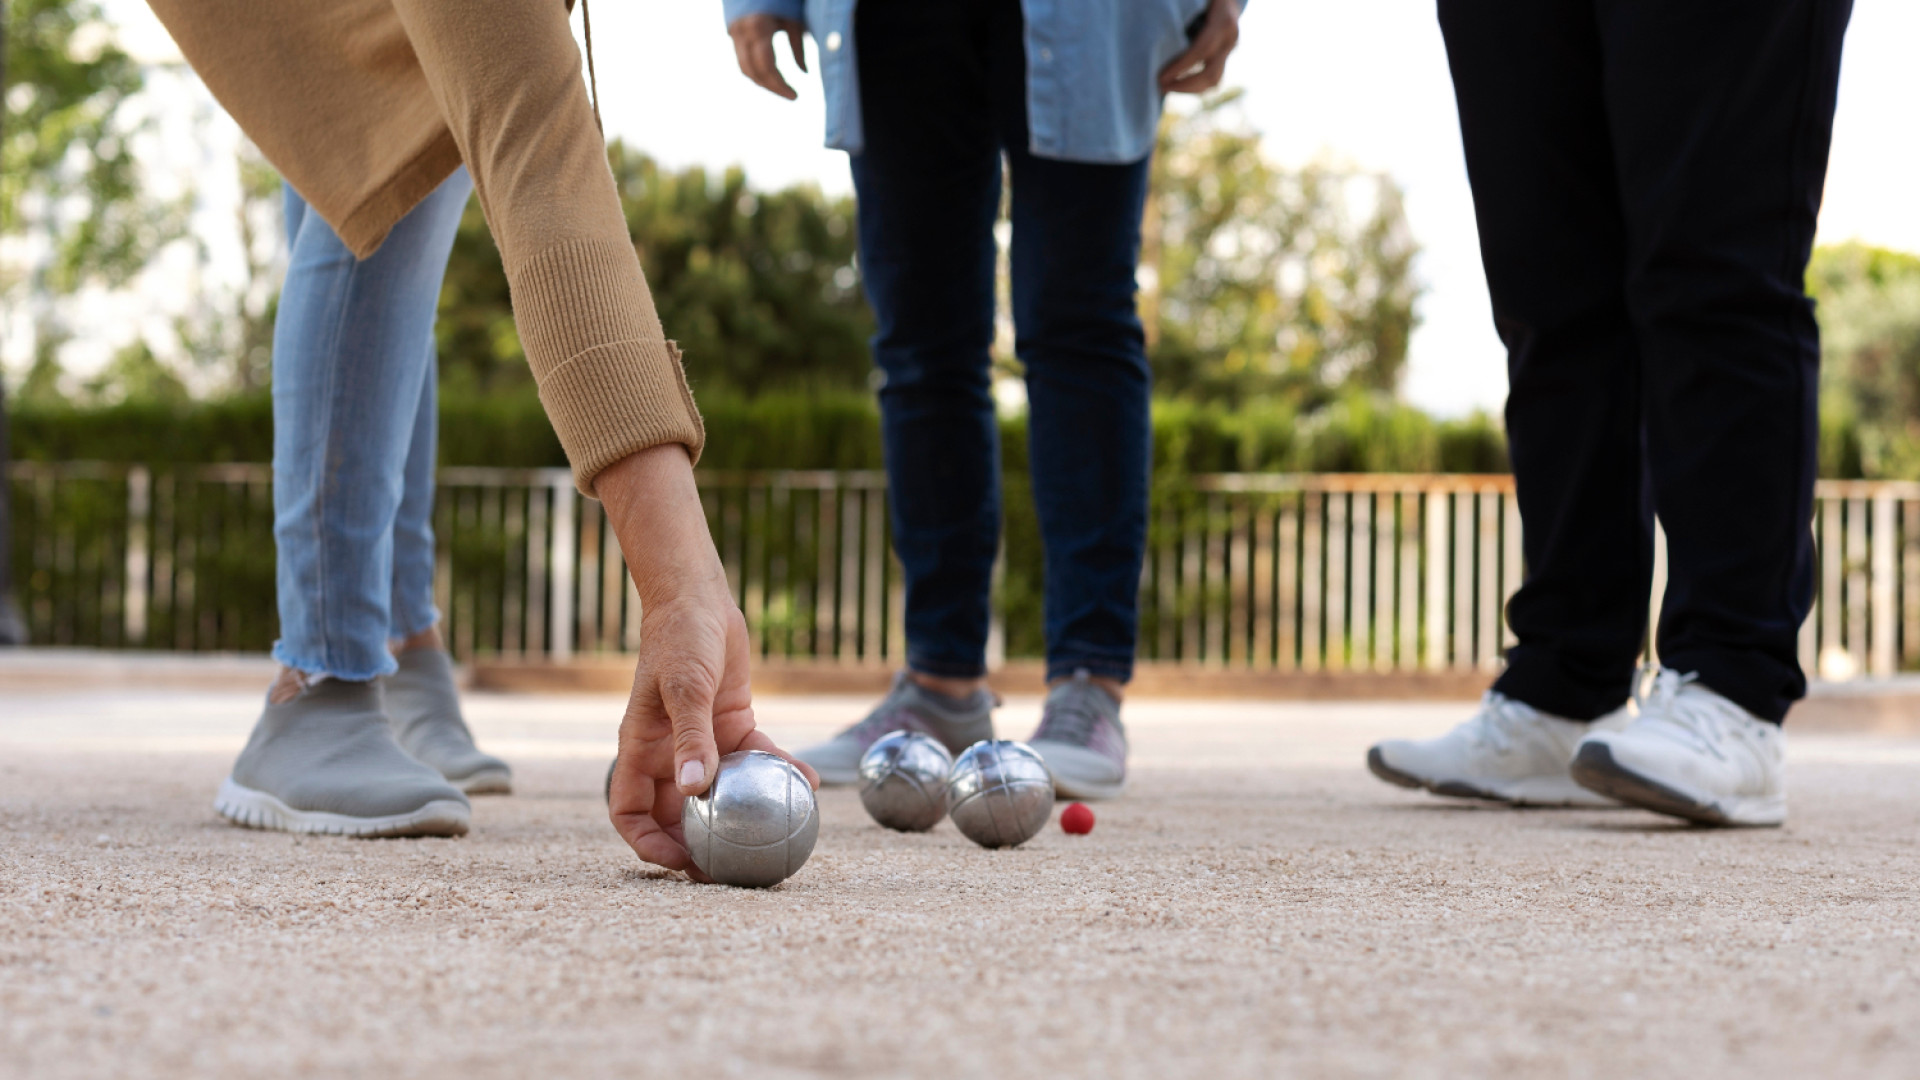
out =
{"type": "Polygon", "coordinates": [[[1920,479],[1920,256],[1816,248],[1822,471],[1920,479]]]}

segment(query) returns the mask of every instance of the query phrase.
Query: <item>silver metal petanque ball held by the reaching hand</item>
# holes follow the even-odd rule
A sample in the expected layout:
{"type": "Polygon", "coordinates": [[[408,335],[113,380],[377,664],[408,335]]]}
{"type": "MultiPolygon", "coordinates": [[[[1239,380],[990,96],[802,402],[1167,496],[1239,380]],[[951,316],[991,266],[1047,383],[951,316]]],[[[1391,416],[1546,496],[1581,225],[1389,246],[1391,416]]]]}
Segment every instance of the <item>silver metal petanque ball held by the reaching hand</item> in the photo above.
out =
{"type": "Polygon", "coordinates": [[[682,828],[693,865],[724,886],[766,888],[814,853],[820,807],[806,776],[762,749],[720,759],[714,782],[687,799],[682,828]]]}

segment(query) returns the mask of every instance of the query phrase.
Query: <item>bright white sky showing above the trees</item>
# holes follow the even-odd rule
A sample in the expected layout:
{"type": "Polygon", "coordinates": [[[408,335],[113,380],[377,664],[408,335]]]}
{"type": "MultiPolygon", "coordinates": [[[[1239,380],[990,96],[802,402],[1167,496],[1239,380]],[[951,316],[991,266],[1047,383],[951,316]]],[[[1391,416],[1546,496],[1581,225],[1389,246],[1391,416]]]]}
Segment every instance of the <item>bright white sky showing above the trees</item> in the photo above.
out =
{"type": "MultiPolygon", "coordinates": [[[[108,0],[136,56],[171,54],[138,0],[108,0]]],[[[739,163],[756,186],[812,181],[851,188],[843,154],[824,150],[820,81],[789,71],[799,102],[747,83],[718,0],[620,0],[593,10],[601,111],[611,136],[668,165],[739,163]]],[[[1920,252],[1920,4],[1857,0],[1820,240],[1860,238],[1920,252]]],[[[1258,0],[1242,21],[1227,81],[1269,154],[1304,163],[1332,154],[1390,173],[1425,254],[1423,325],[1407,396],[1438,413],[1498,409],[1500,340],[1488,317],[1473,204],[1459,152],[1432,0],[1258,0]]]]}

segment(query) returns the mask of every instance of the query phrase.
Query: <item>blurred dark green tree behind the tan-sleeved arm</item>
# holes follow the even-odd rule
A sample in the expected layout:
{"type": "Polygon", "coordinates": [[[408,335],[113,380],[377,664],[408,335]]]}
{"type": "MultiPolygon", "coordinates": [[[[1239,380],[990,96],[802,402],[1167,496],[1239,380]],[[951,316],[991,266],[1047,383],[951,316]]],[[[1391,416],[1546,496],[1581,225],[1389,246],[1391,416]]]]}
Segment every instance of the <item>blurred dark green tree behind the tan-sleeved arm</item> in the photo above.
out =
{"type": "MultiPolygon", "coordinates": [[[[852,202],[812,186],[753,192],[739,169],[664,171],[609,148],[620,206],[666,334],[695,390],[866,386],[874,321],[854,267],[852,202]]],[[[468,206],[440,294],[442,386],[530,388],[507,279],[468,206]]]]}

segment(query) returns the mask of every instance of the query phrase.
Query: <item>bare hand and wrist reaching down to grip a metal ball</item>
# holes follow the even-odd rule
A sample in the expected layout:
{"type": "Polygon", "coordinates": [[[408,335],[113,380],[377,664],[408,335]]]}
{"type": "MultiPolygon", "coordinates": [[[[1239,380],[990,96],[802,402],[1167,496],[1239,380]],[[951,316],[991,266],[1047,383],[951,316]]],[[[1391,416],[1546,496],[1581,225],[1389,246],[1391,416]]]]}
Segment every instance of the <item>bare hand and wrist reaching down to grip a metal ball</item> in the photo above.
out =
{"type": "Polygon", "coordinates": [[[687,855],[685,799],[707,790],[720,755],[764,749],[795,761],[753,721],[747,619],[707,532],[693,465],[657,446],[595,482],[639,590],[639,663],[620,721],[607,815],[636,855],[705,880],[687,855]]]}

